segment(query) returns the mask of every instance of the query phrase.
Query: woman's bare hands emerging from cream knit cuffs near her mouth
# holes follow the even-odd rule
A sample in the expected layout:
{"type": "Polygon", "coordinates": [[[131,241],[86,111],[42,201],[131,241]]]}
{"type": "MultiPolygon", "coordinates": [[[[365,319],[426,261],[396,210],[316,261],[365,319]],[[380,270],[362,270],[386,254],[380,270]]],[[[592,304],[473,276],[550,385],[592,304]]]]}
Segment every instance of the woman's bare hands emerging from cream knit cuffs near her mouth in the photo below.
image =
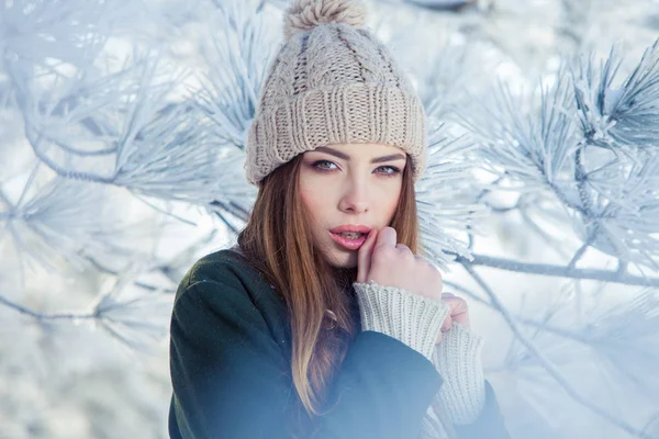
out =
{"type": "MultiPolygon", "coordinates": [[[[393,227],[384,227],[379,232],[371,229],[357,254],[357,266],[359,283],[373,280],[380,285],[400,288],[448,304],[450,312],[444,320],[442,333],[449,330],[454,320],[470,327],[467,302],[451,293],[442,294],[439,270],[422,256],[414,255],[404,244],[396,244],[393,227]]],[[[442,341],[442,333],[437,337],[437,344],[442,341]]]]}

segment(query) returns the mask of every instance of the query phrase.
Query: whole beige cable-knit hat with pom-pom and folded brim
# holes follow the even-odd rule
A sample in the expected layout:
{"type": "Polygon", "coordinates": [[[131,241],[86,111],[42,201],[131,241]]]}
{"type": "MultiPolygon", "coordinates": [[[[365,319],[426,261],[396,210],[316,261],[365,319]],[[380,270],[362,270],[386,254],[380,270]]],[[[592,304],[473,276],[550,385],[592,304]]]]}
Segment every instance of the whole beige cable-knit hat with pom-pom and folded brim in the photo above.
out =
{"type": "Polygon", "coordinates": [[[269,66],[247,133],[252,184],[298,154],[331,144],[405,150],[413,180],[426,165],[425,112],[387,47],[364,29],[355,0],[293,0],[286,44],[269,66]]]}

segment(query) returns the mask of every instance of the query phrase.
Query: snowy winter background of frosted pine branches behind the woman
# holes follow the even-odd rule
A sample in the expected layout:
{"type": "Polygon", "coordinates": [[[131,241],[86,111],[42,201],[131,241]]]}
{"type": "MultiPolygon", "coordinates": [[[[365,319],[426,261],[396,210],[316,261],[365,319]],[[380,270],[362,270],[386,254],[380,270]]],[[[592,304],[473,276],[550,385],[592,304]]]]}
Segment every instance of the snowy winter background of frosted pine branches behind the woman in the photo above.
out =
{"type": "MultiPolygon", "coordinates": [[[[0,2],[0,438],[167,437],[172,293],[249,213],[287,5],[0,2]]],[[[367,5],[513,437],[659,438],[659,1],[367,5]]]]}

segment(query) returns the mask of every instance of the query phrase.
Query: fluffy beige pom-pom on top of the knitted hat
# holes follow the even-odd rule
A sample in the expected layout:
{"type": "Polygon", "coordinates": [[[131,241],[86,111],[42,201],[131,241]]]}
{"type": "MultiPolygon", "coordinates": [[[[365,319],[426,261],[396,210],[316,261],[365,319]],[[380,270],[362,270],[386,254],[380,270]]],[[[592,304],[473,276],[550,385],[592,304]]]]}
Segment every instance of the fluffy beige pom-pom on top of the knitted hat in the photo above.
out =
{"type": "Polygon", "coordinates": [[[359,27],[366,22],[366,9],[358,0],[293,0],[286,10],[283,36],[290,38],[298,31],[320,24],[347,23],[359,27]]]}

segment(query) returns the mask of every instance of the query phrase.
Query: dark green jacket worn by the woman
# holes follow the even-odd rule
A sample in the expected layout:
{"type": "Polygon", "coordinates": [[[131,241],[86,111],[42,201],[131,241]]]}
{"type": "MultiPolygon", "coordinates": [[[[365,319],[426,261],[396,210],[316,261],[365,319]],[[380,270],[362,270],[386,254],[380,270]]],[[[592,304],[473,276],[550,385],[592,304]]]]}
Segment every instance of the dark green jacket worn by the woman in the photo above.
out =
{"type": "MultiPolygon", "coordinates": [[[[291,438],[301,406],[291,379],[291,336],[283,301],[230,249],[197,261],[176,293],[170,327],[171,438],[291,438]]],[[[359,333],[314,423],[319,439],[416,438],[442,385],[435,367],[403,342],[359,333]]],[[[489,383],[474,424],[460,439],[509,438],[489,383]]]]}

